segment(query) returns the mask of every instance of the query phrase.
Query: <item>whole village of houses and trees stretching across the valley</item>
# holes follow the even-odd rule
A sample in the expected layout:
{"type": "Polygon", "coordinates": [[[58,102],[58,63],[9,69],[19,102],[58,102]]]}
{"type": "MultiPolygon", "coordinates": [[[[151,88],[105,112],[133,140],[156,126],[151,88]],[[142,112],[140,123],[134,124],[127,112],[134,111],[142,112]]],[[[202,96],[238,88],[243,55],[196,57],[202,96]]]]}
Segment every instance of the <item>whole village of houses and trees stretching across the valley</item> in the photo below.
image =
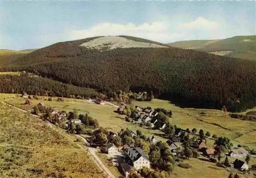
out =
{"type": "MultiPolygon", "coordinates": [[[[31,105],[29,95],[24,93],[24,105],[31,105]]],[[[50,100],[50,99],[49,99],[50,100]]],[[[57,101],[61,102],[61,98],[57,101]]],[[[98,105],[105,105],[102,99],[88,102],[98,105]]],[[[208,160],[216,163],[227,170],[236,169],[242,172],[249,171],[248,165],[250,158],[255,157],[255,151],[249,152],[241,145],[233,146],[226,137],[218,137],[216,134],[204,133],[203,130],[194,128],[181,129],[172,125],[172,111],[163,108],[152,109],[151,107],[139,107],[122,104],[116,108],[115,112],[125,115],[125,120],[131,124],[138,124],[143,128],[162,131],[165,142],[157,140],[154,136],[146,137],[139,130],[131,131],[129,129],[114,132],[99,128],[99,123],[89,115],[65,111],[56,111],[48,108],[40,102],[33,108],[32,113],[41,115],[41,118],[58,125],[60,128],[67,130],[70,134],[87,135],[87,146],[98,148],[101,154],[106,154],[111,160],[113,166],[117,167],[124,177],[132,174],[143,174],[141,169],[164,170],[172,172],[172,167],[163,168],[158,165],[162,160],[153,157],[152,148],[158,146],[166,150],[165,156],[170,156],[167,162],[172,166],[189,168],[190,165],[182,164],[183,159],[197,158],[208,160]],[[133,107],[133,108],[132,108],[133,107]],[[207,140],[214,140],[214,145],[207,144],[207,140]],[[221,162],[222,158],[225,161],[221,162]],[[233,161],[232,161],[233,160],[233,161]]],[[[159,152],[161,155],[161,153],[159,152]]],[[[254,165],[253,165],[254,166],[254,165]]],[[[251,167],[254,169],[254,167],[251,167]]]]}

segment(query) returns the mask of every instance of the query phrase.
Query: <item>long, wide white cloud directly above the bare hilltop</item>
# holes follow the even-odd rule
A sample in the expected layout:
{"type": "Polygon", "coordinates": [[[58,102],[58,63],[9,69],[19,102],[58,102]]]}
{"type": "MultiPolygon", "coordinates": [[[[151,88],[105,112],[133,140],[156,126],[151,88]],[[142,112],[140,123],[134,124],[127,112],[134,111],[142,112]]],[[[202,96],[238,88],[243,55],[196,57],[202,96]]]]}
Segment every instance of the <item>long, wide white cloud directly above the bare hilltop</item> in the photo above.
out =
{"type": "Polygon", "coordinates": [[[108,35],[130,35],[156,41],[170,41],[184,36],[181,33],[171,33],[168,22],[142,23],[139,25],[104,22],[98,23],[90,29],[71,31],[69,36],[71,39],[81,39],[108,35]]]}

